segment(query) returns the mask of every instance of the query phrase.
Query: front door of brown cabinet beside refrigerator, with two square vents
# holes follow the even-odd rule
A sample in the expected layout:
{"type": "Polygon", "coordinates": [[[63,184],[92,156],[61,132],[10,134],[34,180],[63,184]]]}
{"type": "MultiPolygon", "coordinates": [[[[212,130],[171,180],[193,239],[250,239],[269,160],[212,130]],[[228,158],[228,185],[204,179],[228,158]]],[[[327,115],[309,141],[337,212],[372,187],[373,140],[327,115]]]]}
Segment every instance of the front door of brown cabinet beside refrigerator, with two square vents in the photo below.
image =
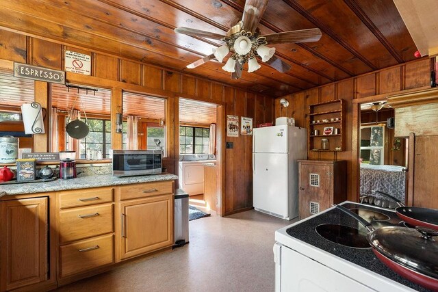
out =
{"type": "Polygon", "coordinates": [[[333,201],[333,183],[329,165],[300,163],[300,219],[313,215],[311,202],[319,204],[319,211],[330,207],[333,201]]]}

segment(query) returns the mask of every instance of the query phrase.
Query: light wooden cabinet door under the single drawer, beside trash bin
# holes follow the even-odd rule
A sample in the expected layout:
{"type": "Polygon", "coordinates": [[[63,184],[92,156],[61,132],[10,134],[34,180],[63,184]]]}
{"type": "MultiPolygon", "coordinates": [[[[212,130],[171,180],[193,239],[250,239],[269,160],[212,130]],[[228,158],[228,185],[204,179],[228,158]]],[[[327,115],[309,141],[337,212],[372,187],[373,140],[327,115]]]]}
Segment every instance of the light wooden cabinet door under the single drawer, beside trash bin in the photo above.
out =
{"type": "Polygon", "coordinates": [[[173,194],[120,203],[120,258],[173,244],[173,194]]]}

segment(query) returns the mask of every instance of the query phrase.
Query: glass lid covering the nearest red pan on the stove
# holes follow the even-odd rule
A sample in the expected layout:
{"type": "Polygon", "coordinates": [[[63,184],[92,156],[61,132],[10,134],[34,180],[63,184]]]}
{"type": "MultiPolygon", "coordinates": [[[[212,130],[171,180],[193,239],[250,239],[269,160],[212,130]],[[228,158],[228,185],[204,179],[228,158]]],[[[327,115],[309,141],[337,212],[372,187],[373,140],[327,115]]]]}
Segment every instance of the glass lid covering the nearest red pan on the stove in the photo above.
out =
{"type": "Polygon", "coordinates": [[[386,226],[368,233],[368,242],[392,261],[438,279],[437,235],[437,230],[420,226],[386,226]]]}

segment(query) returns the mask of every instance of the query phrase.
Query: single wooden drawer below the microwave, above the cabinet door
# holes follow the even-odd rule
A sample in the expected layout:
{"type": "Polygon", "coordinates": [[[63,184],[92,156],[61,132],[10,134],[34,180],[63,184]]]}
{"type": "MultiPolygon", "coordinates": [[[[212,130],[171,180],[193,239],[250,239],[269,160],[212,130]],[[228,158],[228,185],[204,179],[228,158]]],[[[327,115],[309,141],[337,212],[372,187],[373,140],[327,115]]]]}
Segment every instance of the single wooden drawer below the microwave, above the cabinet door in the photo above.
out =
{"type": "Polygon", "coordinates": [[[120,200],[131,200],[163,194],[173,194],[173,181],[159,181],[155,183],[138,183],[118,188],[120,200]]]}

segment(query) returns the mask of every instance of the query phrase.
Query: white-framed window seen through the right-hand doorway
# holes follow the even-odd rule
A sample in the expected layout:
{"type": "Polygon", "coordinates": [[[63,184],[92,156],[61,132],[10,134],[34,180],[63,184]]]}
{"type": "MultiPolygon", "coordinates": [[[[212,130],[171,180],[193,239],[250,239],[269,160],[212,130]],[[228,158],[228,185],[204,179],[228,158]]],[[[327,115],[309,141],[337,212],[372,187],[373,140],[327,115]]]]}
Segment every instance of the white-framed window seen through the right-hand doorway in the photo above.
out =
{"type": "Polygon", "coordinates": [[[361,128],[361,163],[384,164],[385,127],[372,126],[361,128]]]}

